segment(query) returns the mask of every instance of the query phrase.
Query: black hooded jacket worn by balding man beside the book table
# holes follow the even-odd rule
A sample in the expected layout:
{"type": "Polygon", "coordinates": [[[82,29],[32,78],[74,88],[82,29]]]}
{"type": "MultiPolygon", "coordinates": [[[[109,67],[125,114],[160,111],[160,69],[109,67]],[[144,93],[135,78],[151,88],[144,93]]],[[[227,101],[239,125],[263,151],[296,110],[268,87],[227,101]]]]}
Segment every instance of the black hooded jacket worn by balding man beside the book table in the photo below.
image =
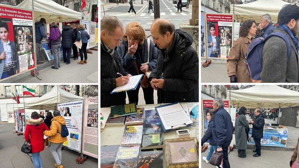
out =
{"type": "Polygon", "coordinates": [[[157,67],[149,76],[164,79],[158,89],[158,103],[199,101],[199,62],[192,36],[182,29],[176,29],[171,47],[159,49],[157,67]]]}

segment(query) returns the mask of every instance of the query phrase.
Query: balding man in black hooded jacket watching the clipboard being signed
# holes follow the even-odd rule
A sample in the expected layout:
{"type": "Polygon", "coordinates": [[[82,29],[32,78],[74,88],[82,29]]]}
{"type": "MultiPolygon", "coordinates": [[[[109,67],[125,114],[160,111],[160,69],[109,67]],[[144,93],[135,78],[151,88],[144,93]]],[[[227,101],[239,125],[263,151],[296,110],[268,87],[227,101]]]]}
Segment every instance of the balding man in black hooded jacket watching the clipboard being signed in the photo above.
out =
{"type": "Polygon", "coordinates": [[[198,102],[199,61],[192,36],[160,18],[153,21],[150,32],[158,60],[149,80],[158,90],[158,103],[198,102]]]}

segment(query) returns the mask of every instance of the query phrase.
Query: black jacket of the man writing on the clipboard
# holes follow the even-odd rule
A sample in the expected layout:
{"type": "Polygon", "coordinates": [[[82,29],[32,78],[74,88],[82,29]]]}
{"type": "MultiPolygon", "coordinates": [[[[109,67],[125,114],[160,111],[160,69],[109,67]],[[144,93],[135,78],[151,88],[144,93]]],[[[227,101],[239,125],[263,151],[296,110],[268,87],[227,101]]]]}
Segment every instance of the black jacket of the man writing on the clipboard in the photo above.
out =
{"type": "Polygon", "coordinates": [[[121,65],[121,58],[117,54],[117,47],[111,56],[101,45],[101,107],[110,107],[120,104],[126,104],[126,92],[119,92],[110,94],[116,88],[116,78],[120,73],[123,76],[128,75],[121,65]],[[115,60],[117,67],[114,66],[115,60]],[[119,70],[118,70],[119,69],[119,70]]]}

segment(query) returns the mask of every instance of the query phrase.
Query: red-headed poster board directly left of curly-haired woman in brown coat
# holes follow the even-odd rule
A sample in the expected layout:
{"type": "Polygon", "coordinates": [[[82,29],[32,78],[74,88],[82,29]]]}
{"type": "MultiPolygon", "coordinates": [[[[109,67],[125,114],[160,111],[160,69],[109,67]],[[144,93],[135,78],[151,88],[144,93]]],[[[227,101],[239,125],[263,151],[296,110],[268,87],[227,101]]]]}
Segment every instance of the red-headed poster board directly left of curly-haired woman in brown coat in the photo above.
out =
{"type": "Polygon", "coordinates": [[[205,48],[208,57],[228,58],[233,43],[233,15],[206,13],[205,48]]]}

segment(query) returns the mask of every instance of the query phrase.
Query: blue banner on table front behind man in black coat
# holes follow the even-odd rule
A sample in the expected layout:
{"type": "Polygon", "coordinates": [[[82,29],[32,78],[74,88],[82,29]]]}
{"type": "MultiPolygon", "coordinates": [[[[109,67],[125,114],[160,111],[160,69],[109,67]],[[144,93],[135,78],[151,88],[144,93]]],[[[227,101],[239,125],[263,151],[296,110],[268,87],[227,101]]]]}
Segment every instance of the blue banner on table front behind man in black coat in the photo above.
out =
{"type": "MultiPolygon", "coordinates": [[[[251,137],[251,134],[252,134],[252,128],[250,128],[250,132],[249,132],[249,138],[251,142],[248,142],[248,144],[255,144],[254,138],[251,137]]],[[[264,128],[263,138],[261,138],[261,145],[285,147],[287,139],[288,139],[288,129],[264,128]]]]}

